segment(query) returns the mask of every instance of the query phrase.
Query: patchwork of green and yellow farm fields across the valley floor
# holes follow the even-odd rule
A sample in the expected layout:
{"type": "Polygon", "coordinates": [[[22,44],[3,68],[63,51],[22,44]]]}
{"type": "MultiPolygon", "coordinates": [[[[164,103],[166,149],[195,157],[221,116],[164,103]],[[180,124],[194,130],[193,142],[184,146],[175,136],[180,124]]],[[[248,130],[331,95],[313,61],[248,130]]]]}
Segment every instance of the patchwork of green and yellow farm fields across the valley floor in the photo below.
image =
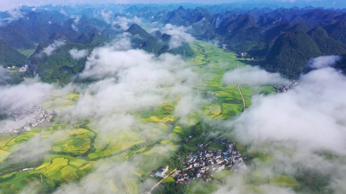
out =
{"type": "MultiPolygon", "coordinates": [[[[177,100],[180,98],[177,96],[172,98],[176,99],[174,101],[163,101],[160,106],[133,113],[140,124],[126,130],[105,132],[98,122],[86,119],[68,123],[51,121],[45,125],[32,127],[31,132],[12,136],[2,134],[0,135],[0,162],[2,162],[0,193],[19,192],[28,185],[42,192],[50,192],[57,185],[78,181],[94,172],[95,164],[110,161],[136,164],[136,167],[129,167],[127,173],[109,179],[107,184],[112,191],[140,193],[147,189],[142,184],[146,178],[151,180],[151,184],[157,182],[157,179],[150,178],[149,175],[159,166],[168,163],[178,164],[179,162],[172,161],[172,158],[176,160],[187,152],[195,152],[199,149],[198,143],[207,143],[225,133],[228,129],[210,130],[211,127],[200,119],[224,120],[243,111],[243,102],[237,86],[227,86],[222,83],[224,73],[238,68],[236,56],[217,45],[203,41],[195,41],[191,47],[196,56],[188,59],[191,63],[189,68],[201,75],[202,81],[197,85],[197,89],[210,99],[201,105],[200,111],[188,116],[192,121],[182,124],[181,118],[175,116],[177,100]],[[193,135],[193,138],[185,142],[184,138],[189,135],[193,135]],[[51,139],[52,137],[54,138],[51,139]],[[18,151],[22,143],[33,138],[50,140],[52,143],[47,145],[49,148],[41,158],[13,163],[11,155],[18,151]],[[30,169],[24,170],[25,168],[30,169]]],[[[239,65],[242,67],[245,63],[239,62],[239,65]]],[[[240,88],[246,100],[246,107],[251,104],[251,96],[274,91],[270,86],[240,86],[240,88]]],[[[77,92],[54,96],[44,103],[44,107],[62,109],[75,104],[79,98],[77,92]]],[[[222,147],[213,142],[208,149],[220,150],[222,147]]],[[[239,145],[239,149],[246,152],[246,146],[239,145]]],[[[264,158],[262,155],[255,157],[264,158]]],[[[175,166],[169,167],[169,169],[174,168],[175,166]]],[[[223,176],[219,174],[215,175],[215,178],[220,180],[223,176]]],[[[164,183],[172,181],[174,180],[170,177],[164,183]]],[[[293,179],[285,176],[277,176],[271,181],[276,185],[295,185],[293,179]]],[[[210,193],[216,188],[215,184],[193,181],[187,192],[210,193]],[[205,189],[198,189],[200,185],[205,189]]]]}

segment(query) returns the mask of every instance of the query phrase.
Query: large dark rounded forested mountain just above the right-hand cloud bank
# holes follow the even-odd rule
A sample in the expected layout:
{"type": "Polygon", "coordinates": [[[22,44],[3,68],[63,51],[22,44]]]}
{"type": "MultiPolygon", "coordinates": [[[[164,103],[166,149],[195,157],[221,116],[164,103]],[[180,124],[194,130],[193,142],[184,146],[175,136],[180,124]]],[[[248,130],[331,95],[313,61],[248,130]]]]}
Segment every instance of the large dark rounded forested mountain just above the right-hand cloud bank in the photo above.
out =
{"type": "Polygon", "coordinates": [[[321,55],[309,34],[302,31],[285,32],[276,39],[271,48],[265,69],[296,79],[304,71],[310,58],[321,55]]]}

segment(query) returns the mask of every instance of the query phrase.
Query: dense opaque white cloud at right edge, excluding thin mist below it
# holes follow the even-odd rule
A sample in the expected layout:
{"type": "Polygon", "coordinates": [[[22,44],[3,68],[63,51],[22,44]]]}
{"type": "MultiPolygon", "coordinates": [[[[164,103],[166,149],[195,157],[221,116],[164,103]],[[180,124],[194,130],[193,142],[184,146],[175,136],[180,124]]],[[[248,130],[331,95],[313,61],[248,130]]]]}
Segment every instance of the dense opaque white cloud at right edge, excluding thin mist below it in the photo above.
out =
{"type": "Polygon", "coordinates": [[[312,150],[346,153],[346,78],[332,68],[301,77],[286,93],[255,96],[234,121],[245,142],[291,142],[312,150]]]}

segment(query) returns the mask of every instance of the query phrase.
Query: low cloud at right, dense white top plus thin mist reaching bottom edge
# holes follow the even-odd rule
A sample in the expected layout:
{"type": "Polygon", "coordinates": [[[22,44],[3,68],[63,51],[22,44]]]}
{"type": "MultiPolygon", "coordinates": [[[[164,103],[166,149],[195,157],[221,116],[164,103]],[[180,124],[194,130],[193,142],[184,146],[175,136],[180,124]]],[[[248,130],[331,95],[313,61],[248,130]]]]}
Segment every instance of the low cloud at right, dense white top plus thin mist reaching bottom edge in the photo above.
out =
{"type": "MultiPolygon", "coordinates": [[[[285,93],[254,96],[245,112],[226,122],[237,141],[248,145],[249,153],[268,154],[270,159],[249,161],[247,171],[234,173],[215,193],[255,193],[244,190],[253,184],[249,180],[273,180],[279,174],[303,179],[314,174],[326,179],[325,188],[344,191],[340,181],[346,180],[346,77],[328,67],[335,61],[330,57],[311,61],[321,69],[302,75],[299,85],[285,93]],[[328,154],[335,157],[328,159],[328,154]],[[237,179],[239,184],[232,184],[237,179]]],[[[256,186],[264,193],[300,193],[269,183],[256,186]]],[[[305,193],[314,193],[301,186],[305,193]]]]}

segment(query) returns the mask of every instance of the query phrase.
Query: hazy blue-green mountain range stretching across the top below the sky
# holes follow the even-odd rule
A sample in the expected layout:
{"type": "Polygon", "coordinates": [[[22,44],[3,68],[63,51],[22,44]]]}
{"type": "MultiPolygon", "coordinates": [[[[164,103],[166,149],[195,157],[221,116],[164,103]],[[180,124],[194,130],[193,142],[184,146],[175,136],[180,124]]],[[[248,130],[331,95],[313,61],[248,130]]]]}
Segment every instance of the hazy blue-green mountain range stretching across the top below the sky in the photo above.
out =
{"type": "Polygon", "coordinates": [[[194,56],[187,42],[173,48],[171,35],[145,30],[160,29],[165,24],[184,26],[197,39],[217,40],[231,51],[247,52],[246,57],[262,60],[266,70],[294,79],[304,72],[309,58],[346,53],[345,9],[234,9],[230,5],[192,4],[186,7],[44,6],[22,7],[15,16],[2,12],[0,64],[5,68],[29,64],[30,72],[39,74],[45,82],[68,83],[83,70],[86,60],[74,60],[69,50],[90,52],[123,32],[132,34],[134,48],[157,55],[169,52],[194,56]],[[55,41],[64,43],[54,53],[37,57],[55,41]]]}

